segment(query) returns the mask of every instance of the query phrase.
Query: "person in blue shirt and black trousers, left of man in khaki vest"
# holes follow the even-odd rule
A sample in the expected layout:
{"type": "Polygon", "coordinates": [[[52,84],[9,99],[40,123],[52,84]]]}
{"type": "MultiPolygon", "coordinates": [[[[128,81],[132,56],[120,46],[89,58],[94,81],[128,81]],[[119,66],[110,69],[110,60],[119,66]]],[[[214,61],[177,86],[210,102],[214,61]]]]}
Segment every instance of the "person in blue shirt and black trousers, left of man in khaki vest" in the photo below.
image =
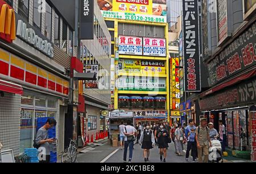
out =
{"type": "Polygon", "coordinates": [[[191,154],[193,157],[193,161],[196,161],[196,140],[195,140],[195,122],[193,119],[188,120],[188,126],[185,128],[185,137],[188,139],[188,146],[186,151],[186,160],[188,161],[189,151],[191,150],[191,154]],[[190,132],[193,130],[193,133],[190,132]],[[190,137],[189,137],[190,136],[190,137]]]}

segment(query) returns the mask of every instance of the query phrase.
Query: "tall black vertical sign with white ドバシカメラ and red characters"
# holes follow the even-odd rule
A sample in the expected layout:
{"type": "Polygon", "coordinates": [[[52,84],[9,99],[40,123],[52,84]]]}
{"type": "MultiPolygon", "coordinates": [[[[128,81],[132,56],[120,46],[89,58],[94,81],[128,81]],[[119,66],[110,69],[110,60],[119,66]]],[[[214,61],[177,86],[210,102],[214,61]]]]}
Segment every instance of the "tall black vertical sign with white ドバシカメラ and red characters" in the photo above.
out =
{"type": "Polygon", "coordinates": [[[199,10],[196,0],[183,1],[183,40],[185,91],[200,92],[199,10]]]}

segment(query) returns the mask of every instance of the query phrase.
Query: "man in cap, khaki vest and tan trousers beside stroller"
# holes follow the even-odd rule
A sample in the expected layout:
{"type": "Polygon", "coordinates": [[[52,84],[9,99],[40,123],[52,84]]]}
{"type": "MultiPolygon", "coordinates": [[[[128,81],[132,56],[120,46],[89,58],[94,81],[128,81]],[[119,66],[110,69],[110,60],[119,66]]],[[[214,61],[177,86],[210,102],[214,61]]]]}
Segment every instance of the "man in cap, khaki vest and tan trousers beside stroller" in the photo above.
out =
{"type": "Polygon", "coordinates": [[[212,143],[210,142],[206,118],[200,118],[200,126],[196,127],[196,146],[199,163],[207,163],[209,146],[212,147],[212,143]]]}

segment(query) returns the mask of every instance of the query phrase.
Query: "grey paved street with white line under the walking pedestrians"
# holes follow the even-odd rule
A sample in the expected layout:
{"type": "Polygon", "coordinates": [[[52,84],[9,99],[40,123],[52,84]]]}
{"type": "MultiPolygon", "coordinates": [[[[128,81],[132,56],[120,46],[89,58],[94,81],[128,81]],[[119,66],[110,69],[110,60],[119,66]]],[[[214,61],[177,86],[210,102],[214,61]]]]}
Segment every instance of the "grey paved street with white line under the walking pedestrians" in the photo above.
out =
{"type": "MultiPolygon", "coordinates": [[[[184,147],[186,149],[186,147],[184,147]]],[[[174,143],[169,144],[169,148],[167,150],[167,163],[189,163],[194,162],[191,158],[189,158],[189,161],[185,161],[185,156],[177,156],[174,153],[174,143]]],[[[153,148],[150,151],[150,163],[163,163],[159,159],[159,149],[158,147],[153,148]]],[[[129,151],[127,152],[127,159],[129,151]]],[[[105,143],[104,146],[98,146],[94,147],[92,149],[89,149],[88,152],[85,152],[83,154],[77,155],[77,162],[79,163],[123,163],[123,150],[120,150],[118,147],[112,147],[110,144],[105,143]]],[[[139,146],[139,144],[134,145],[134,151],[133,151],[133,163],[144,163],[143,158],[143,150],[139,146]]]]}

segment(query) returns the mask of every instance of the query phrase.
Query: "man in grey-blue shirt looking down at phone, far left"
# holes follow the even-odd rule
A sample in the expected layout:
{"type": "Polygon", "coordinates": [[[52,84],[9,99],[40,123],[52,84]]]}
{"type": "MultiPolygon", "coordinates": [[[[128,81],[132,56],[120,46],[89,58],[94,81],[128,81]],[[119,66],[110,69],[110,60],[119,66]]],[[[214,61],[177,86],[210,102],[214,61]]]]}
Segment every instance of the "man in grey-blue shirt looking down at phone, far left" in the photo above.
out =
{"type": "Polygon", "coordinates": [[[53,143],[55,138],[48,138],[48,129],[51,129],[53,126],[56,126],[56,120],[53,118],[48,118],[46,124],[41,127],[38,132],[36,132],[36,144],[38,144],[40,147],[44,147],[43,151],[42,148],[38,148],[38,152],[40,154],[39,157],[42,157],[39,158],[40,163],[49,163],[50,161],[51,148],[49,143],[53,143]]]}

